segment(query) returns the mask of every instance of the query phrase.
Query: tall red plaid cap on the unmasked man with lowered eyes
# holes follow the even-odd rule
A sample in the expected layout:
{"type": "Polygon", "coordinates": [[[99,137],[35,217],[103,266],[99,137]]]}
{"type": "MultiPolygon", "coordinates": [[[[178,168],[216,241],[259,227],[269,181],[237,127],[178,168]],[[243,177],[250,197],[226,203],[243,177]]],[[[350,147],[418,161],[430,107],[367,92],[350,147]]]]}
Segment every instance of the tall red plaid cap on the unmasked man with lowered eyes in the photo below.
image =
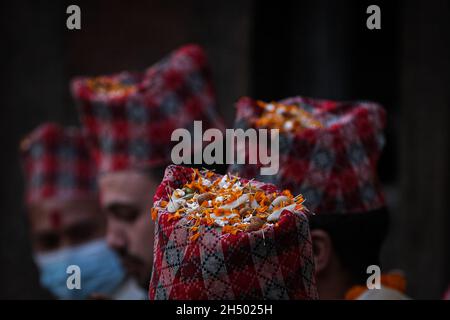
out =
{"type": "Polygon", "coordinates": [[[72,82],[100,172],[171,163],[177,128],[193,132],[224,125],[204,51],[187,45],[142,74],[78,78],[72,82]]]}

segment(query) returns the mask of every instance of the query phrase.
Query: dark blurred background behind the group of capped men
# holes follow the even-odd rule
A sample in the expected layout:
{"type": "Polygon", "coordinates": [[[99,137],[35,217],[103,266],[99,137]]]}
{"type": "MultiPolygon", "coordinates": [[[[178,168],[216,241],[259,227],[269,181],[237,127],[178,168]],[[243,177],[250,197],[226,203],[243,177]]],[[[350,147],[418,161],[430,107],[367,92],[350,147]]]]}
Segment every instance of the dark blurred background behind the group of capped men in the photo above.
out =
{"type": "MultiPolygon", "coordinates": [[[[450,283],[450,3],[436,1],[2,1],[0,298],[39,298],[18,143],[44,121],[78,124],[75,75],[141,70],[205,47],[231,127],[243,95],[369,99],[388,111],[380,174],[392,210],[382,271],[414,298],[450,283]],[[66,29],[81,7],[82,29],[66,29]],[[366,9],[381,8],[381,30],[366,9]]],[[[355,239],[357,241],[357,239],[355,239]]]]}

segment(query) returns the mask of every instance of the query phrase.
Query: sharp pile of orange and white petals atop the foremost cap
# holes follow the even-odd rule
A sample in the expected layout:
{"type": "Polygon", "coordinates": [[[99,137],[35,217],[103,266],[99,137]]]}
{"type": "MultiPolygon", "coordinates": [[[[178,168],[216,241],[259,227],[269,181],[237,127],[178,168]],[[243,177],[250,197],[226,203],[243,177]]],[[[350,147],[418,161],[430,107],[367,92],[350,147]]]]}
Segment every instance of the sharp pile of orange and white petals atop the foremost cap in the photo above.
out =
{"type": "Polygon", "coordinates": [[[159,210],[167,210],[169,221],[185,217],[192,231],[191,240],[201,229],[215,226],[222,233],[256,231],[273,226],[284,210],[301,212],[303,196],[292,196],[289,190],[266,193],[252,180],[241,182],[229,174],[219,176],[212,171],[194,169],[192,181],[182,188],[167,190],[168,200],[160,200],[152,209],[156,220],[159,210]]]}

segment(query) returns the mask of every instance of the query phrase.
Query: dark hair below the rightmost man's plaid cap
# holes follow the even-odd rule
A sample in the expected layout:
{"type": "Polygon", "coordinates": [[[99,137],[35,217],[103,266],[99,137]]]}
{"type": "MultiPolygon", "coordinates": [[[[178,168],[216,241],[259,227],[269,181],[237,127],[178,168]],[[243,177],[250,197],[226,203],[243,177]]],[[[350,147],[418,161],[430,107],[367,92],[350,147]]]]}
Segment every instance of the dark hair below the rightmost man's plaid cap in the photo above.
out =
{"type": "Polygon", "coordinates": [[[369,265],[380,265],[380,252],[389,229],[387,208],[354,214],[310,216],[311,230],[328,233],[338,259],[355,283],[365,283],[369,265]]]}

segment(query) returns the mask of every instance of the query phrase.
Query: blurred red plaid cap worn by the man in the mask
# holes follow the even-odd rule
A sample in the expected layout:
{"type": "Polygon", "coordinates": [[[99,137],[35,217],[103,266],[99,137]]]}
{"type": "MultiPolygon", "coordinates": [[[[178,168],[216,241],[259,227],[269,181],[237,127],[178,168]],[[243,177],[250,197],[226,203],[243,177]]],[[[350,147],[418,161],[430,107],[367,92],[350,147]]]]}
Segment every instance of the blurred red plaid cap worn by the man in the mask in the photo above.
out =
{"type": "Polygon", "coordinates": [[[43,124],[22,141],[20,149],[27,204],[95,195],[95,164],[78,128],[43,124]]]}

